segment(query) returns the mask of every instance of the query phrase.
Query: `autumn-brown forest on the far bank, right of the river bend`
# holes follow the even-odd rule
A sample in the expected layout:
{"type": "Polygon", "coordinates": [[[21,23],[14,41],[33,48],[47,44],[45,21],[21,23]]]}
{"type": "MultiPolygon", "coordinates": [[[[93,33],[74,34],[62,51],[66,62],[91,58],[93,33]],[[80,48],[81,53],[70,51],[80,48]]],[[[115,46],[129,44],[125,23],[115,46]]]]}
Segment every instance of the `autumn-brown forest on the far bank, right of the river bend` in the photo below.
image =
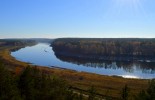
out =
{"type": "Polygon", "coordinates": [[[59,38],[52,42],[57,55],[104,60],[155,60],[155,39],[59,38]]]}

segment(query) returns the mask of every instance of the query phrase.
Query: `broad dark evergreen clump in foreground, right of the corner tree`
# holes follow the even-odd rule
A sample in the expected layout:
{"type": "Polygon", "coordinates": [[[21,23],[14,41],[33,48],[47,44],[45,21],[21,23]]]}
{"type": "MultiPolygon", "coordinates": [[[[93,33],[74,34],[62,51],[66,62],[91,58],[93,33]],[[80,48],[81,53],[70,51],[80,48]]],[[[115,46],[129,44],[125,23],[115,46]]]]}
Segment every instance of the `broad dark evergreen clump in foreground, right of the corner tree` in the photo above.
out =
{"type": "Polygon", "coordinates": [[[73,100],[74,93],[66,82],[37,68],[27,67],[19,78],[24,100],[73,100]]]}

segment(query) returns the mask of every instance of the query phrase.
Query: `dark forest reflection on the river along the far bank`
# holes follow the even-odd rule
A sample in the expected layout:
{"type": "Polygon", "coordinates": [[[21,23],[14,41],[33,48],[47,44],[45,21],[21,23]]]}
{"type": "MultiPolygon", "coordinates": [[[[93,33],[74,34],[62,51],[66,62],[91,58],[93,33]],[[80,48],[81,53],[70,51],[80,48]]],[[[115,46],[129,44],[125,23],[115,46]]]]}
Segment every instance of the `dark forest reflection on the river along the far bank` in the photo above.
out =
{"type": "Polygon", "coordinates": [[[144,61],[110,61],[110,60],[95,60],[95,59],[83,59],[71,56],[62,56],[55,53],[55,56],[65,62],[70,62],[77,65],[83,65],[86,67],[104,68],[104,69],[123,69],[126,72],[134,73],[135,70],[141,70],[142,73],[154,74],[155,62],[144,61]]]}

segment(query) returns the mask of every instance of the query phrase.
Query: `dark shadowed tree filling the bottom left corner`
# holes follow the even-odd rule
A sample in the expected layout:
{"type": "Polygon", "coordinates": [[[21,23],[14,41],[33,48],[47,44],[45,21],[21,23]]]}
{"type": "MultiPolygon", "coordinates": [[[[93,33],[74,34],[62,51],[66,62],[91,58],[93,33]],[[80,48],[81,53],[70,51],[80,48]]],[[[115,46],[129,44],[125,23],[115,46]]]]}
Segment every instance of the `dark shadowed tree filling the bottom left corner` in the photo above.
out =
{"type": "Polygon", "coordinates": [[[21,100],[15,77],[0,64],[0,100],[21,100]]]}

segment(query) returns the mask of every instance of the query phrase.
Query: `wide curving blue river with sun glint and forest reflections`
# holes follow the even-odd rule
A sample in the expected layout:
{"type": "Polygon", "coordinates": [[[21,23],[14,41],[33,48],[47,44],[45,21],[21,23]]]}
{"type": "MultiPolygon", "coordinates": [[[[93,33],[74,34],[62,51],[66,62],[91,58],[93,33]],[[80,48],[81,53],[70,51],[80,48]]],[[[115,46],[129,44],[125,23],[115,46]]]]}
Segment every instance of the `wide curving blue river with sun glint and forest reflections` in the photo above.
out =
{"type": "Polygon", "coordinates": [[[11,55],[19,61],[33,65],[56,66],[101,75],[122,76],[124,78],[155,78],[155,62],[148,61],[81,61],[80,59],[55,56],[52,47],[46,43],[12,51],[11,55]]]}

